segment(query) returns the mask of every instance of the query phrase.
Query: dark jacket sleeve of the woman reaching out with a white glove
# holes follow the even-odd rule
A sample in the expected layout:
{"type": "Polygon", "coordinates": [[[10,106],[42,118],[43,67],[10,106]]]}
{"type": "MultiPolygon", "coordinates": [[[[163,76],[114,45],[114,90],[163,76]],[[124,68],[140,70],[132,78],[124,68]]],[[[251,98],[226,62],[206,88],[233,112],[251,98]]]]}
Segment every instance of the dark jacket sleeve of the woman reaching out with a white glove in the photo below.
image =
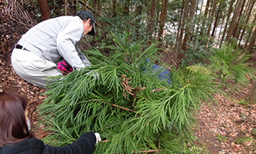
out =
{"type": "Polygon", "coordinates": [[[46,145],[43,154],[91,154],[94,152],[96,136],[94,132],[86,132],[77,141],[67,146],[54,147],[46,145]]]}

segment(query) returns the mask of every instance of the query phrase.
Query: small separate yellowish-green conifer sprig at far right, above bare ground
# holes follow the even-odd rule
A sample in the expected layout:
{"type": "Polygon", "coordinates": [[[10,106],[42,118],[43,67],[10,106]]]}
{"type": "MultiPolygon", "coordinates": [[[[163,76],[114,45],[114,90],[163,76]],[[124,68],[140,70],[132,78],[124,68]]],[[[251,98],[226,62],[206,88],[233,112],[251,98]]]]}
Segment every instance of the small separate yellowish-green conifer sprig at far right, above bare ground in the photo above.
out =
{"type": "Polygon", "coordinates": [[[210,69],[217,72],[220,84],[228,85],[229,81],[234,81],[237,85],[245,85],[249,82],[247,75],[252,75],[254,71],[250,68],[247,60],[251,55],[242,49],[236,49],[236,44],[222,45],[210,56],[210,69]]]}

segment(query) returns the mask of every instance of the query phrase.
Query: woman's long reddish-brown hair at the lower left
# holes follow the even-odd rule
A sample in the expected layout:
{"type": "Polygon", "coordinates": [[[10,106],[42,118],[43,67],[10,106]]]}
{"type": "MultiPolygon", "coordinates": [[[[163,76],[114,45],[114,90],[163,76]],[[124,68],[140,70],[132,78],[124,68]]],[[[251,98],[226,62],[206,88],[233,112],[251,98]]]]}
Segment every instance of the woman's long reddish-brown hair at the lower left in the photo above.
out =
{"type": "Polygon", "coordinates": [[[27,99],[12,92],[0,92],[0,147],[32,137],[25,117],[27,99]]]}

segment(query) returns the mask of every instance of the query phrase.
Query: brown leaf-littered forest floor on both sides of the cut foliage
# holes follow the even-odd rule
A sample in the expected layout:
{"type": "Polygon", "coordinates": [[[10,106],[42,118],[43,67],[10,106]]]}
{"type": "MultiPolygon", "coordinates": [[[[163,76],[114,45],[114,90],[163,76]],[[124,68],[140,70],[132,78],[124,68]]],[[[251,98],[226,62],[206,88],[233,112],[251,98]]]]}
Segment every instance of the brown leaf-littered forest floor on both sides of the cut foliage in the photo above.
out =
{"type": "MultiPolygon", "coordinates": [[[[11,43],[12,44],[12,43],[11,43]]],[[[4,46],[4,45],[3,45],[4,46]]],[[[47,136],[43,126],[38,126],[37,106],[46,99],[46,89],[36,87],[16,75],[10,62],[13,45],[5,45],[0,54],[0,91],[18,92],[29,100],[29,118],[32,131],[39,139],[47,136]]],[[[200,146],[203,153],[248,154],[256,153],[256,104],[243,103],[251,89],[251,84],[241,92],[230,95],[215,95],[217,106],[203,103],[197,117],[199,127],[195,129],[195,141],[188,146],[200,146]]]]}

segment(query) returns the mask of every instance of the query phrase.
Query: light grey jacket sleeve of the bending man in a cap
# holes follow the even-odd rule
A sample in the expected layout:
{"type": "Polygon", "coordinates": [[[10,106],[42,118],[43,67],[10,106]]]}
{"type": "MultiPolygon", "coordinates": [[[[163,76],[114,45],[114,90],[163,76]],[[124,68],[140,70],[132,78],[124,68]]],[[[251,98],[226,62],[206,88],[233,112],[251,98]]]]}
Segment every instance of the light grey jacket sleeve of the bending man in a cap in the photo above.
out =
{"type": "Polygon", "coordinates": [[[80,22],[69,22],[56,38],[56,45],[60,55],[75,69],[84,68],[85,65],[80,59],[76,46],[83,37],[84,27],[80,22]]]}

